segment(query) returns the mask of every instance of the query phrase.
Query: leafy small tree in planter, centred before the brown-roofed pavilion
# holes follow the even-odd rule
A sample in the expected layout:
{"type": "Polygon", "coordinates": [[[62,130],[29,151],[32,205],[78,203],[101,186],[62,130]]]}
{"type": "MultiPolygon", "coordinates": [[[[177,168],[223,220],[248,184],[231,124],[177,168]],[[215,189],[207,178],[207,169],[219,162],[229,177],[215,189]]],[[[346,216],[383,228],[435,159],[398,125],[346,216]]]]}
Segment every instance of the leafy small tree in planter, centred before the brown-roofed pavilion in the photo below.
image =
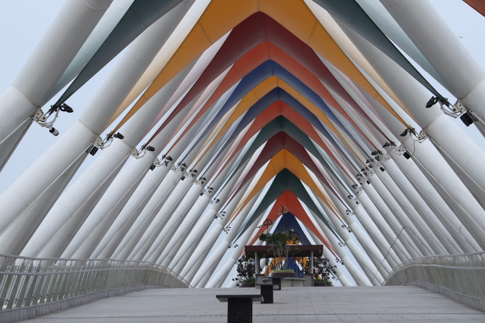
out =
{"type": "Polygon", "coordinates": [[[259,240],[265,242],[267,246],[270,246],[268,252],[275,256],[271,264],[271,277],[296,277],[293,270],[287,269],[288,262],[285,260],[292,256],[289,255],[291,246],[298,244],[301,237],[295,235],[293,230],[290,230],[289,232],[276,231],[274,233],[261,233],[259,240]],[[292,241],[293,245],[289,245],[288,241],[292,241]]]}

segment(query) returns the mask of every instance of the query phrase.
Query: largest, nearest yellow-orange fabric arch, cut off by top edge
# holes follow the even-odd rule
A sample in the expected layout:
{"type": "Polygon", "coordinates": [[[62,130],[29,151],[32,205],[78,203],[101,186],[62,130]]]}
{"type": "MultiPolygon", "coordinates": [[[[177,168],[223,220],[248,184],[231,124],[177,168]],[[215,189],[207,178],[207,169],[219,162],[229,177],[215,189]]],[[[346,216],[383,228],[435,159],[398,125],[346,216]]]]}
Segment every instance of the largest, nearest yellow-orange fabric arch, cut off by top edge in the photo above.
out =
{"type": "Polygon", "coordinates": [[[372,95],[407,127],[407,124],[404,123],[340,49],[315,18],[304,0],[212,0],[170,61],[167,62],[160,74],[112,133],[116,132],[149,98],[209,48],[217,39],[257,11],[271,16],[308,44],[345,75],[354,80],[364,91],[372,95]]]}

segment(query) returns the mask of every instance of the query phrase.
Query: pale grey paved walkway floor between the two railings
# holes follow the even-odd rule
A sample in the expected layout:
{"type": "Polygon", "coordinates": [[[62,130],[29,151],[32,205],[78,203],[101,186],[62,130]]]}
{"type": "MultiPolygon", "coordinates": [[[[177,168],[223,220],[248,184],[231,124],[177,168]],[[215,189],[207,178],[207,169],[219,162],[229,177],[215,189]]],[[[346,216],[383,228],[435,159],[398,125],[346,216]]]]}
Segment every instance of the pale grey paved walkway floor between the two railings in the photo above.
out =
{"type": "MultiPolygon", "coordinates": [[[[29,320],[52,322],[227,322],[216,294],[240,289],[161,289],[132,292],[29,320]]],[[[485,313],[424,289],[403,287],[292,287],[275,304],[254,303],[255,323],[266,322],[485,322],[485,313]]]]}

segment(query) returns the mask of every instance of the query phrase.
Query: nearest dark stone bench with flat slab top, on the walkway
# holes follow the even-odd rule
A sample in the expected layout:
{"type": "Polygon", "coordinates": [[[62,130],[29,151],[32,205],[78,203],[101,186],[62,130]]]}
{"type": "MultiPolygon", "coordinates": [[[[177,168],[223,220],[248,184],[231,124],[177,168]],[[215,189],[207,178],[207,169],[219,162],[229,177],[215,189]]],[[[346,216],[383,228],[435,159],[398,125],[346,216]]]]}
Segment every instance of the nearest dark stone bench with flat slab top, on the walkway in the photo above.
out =
{"type": "Polygon", "coordinates": [[[252,323],[253,302],[263,302],[262,295],[216,295],[220,302],[227,303],[227,323],[252,323]]]}

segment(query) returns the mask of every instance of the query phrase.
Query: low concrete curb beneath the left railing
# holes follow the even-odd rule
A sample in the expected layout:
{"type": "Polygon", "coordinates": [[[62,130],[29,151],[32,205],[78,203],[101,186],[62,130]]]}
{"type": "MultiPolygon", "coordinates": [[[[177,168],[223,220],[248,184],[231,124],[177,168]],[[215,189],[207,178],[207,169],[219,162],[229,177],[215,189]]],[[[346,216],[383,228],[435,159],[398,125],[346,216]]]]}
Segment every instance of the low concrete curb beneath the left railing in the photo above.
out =
{"type": "Polygon", "coordinates": [[[48,304],[39,304],[30,306],[27,308],[13,308],[0,311],[0,323],[10,323],[16,321],[22,321],[32,319],[34,317],[43,316],[51,313],[55,313],[67,308],[73,308],[79,305],[83,305],[100,298],[120,296],[129,292],[138,292],[150,288],[169,288],[164,285],[148,285],[139,284],[133,286],[125,286],[112,290],[90,292],[88,294],[79,295],[63,299],[61,301],[52,302],[48,304]]]}

